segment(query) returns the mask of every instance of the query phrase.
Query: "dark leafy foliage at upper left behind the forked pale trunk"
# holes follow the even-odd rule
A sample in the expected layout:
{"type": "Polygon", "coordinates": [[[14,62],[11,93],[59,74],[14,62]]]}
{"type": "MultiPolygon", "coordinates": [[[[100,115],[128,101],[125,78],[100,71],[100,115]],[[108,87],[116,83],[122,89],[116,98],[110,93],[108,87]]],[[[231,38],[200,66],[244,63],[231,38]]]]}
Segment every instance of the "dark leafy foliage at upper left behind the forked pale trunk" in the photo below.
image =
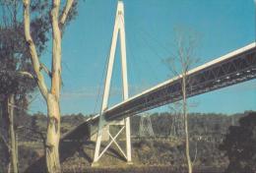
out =
{"type": "MultiPolygon", "coordinates": [[[[66,24],[77,15],[77,5],[78,1],[73,4],[66,24]]],[[[39,56],[46,50],[51,36],[51,6],[48,0],[32,0],[31,3],[31,34],[39,56]]],[[[15,93],[17,98],[27,99],[26,94],[36,84],[20,73],[29,72],[34,75],[24,36],[23,1],[0,0],[0,8],[0,96],[15,93]]]]}

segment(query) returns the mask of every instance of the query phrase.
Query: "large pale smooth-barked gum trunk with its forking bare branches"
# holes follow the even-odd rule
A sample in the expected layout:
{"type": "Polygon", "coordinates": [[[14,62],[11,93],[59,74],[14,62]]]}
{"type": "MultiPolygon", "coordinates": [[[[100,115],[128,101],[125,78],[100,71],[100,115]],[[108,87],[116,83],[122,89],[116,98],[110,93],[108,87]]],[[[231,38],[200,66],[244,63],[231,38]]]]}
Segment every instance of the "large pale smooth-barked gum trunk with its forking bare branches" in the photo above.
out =
{"type": "Polygon", "coordinates": [[[26,42],[29,46],[32,69],[36,84],[39,87],[47,104],[47,135],[46,135],[46,164],[50,173],[60,172],[59,141],[60,141],[60,89],[61,89],[61,38],[63,27],[70,19],[70,10],[74,6],[74,0],[67,0],[60,14],[60,0],[52,0],[50,11],[50,24],[52,29],[52,61],[51,71],[39,62],[36,44],[31,35],[31,0],[23,0],[24,3],[24,29],[26,42]],[[41,70],[44,70],[51,81],[48,89],[41,70]]]}

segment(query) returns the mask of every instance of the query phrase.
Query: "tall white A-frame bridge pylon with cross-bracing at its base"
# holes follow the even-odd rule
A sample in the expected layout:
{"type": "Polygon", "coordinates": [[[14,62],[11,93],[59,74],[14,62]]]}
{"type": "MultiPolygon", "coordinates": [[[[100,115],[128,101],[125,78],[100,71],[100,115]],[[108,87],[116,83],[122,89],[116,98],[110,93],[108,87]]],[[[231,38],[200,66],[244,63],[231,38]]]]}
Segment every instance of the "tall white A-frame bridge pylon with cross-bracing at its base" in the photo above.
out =
{"type": "MultiPolygon", "coordinates": [[[[122,125],[121,130],[114,136],[109,133],[109,128],[104,128],[108,126],[110,123],[106,122],[104,119],[104,111],[107,109],[108,97],[109,97],[109,89],[111,85],[112,78],[112,70],[114,64],[115,57],[115,49],[117,43],[117,37],[119,34],[120,37],[120,47],[121,47],[121,64],[122,64],[122,83],[123,83],[123,99],[128,99],[128,80],[127,80],[127,65],[126,65],[126,44],[125,44],[125,28],[124,28],[124,5],[123,2],[118,1],[117,11],[115,16],[115,24],[110,48],[110,54],[108,59],[108,67],[105,78],[104,92],[103,92],[103,100],[101,105],[101,111],[99,115],[99,122],[97,128],[97,136],[96,136],[96,150],[95,150],[95,158],[93,162],[93,166],[96,165],[98,159],[102,156],[102,154],[107,150],[107,148],[111,144],[116,144],[119,148],[123,156],[127,159],[128,162],[131,162],[131,134],[130,134],[130,118],[126,118],[119,122],[118,125],[122,125]],[[125,129],[126,131],[126,153],[122,150],[119,144],[116,142],[116,138],[118,135],[125,129]],[[103,132],[107,131],[107,132],[103,132]],[[102,138],[102,133],[107,133],[110,137],[110,143],[105,146],[105,148],[100,152],[100,143],[102,138]]],[[[114,123],[112,123],[114,124],[114,123]]]]}

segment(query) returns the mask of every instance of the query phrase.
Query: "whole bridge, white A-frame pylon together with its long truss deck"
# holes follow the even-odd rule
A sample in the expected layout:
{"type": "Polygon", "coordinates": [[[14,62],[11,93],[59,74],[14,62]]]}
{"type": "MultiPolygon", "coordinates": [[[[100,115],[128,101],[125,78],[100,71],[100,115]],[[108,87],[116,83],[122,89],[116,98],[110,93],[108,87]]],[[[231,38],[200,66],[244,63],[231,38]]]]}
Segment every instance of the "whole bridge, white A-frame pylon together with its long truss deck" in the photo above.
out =
{"type": "MultiPolygon", "coordinates": [[[[96,116],[89,118],[86,122],[82,123],[63,137],[63,141],[68,141],[70,137],[72,138],[78,134],[80,135],[77,137],[83,138],[81,135],[82,131],[85,131],[84,133],[87,134],[89,133],[88,131],[91,131],[91,136],[94,136],[94,140],[96,140],[93,166],[96,166],[98,159],[111,144],[116,144],[128,163],[130,163],[130,117],[182,99],[182,75],[178,75],[156,87],[149,88],[139,94],[129,97],[126,66],[124,5],[121,1],[118,1],[101,110],[96,116]],[[112,107],[108,107],[109,89],[111,86],[118,35],[120,36],[121,48],[123,101],[112,107]],[[89,128],[89,126],[95,127],[96,125],[97,128],[89,128]],[[110,125],[118,125],[122,126],[122,128],[115,136],[112,136],[109,132],[110,125]],[[117,137],[124,129],[126,133],[126,153],[116,142],[117,137]],[[109,138],[109,144],[107,144],[100,152],[101,141],[109,141],[109,138]]],[[[189,79],[189,83],[186,84],[187,97],[256,79],[256,42],[245,45],[244,47],[229,52],[220,58],[189,70],[186,78],[189,79]]]]}

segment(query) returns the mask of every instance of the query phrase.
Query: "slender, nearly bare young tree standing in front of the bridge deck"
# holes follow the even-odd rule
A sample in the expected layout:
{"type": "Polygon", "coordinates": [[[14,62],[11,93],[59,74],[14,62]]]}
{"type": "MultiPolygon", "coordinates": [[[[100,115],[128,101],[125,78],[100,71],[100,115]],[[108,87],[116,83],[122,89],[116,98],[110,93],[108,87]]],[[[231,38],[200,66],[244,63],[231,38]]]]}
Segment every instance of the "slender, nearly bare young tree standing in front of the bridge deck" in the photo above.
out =
{"type": "Polygon", "coordinates": [[[175,29],[176,37],[174,40],[175,52],[170,58],[165,60],[172,75],[179,77],[181,88],[181,112],[184,120],[185,133],[185,152],[188,172],[192,173],[192,162],[189,151],[189,129],[188,129],[188,103],[187,90],[189,87],[188,70],[196,64],[199,59],[195,57],[197,37],[190,30],[175,29]]]}

